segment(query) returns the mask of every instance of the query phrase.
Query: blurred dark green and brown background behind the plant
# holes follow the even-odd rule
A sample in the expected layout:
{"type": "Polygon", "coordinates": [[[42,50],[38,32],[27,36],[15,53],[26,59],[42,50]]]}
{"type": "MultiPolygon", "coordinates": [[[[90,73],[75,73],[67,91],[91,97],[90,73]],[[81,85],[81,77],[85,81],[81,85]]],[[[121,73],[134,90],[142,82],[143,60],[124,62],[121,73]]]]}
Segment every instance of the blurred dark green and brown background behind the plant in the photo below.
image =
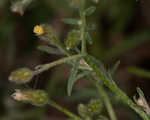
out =
{"type": "MultiPolygon", "coordinates": [[[[55,67],[25,86],[10,83],[8,76],[17,68],[34,68],[38,64],[59,59],[61,56],[37,50],[38,45],[46,43],[33,34],[33,28],[37,24],[48,23],[64,41],[73,27],[64,24],[62,19],[78,18],[78,11],[71,8],[67,0],[34,0],[21,16],[11,11],[12,4],[10,0],[0,0],[0,120],[66,119],[63,113],[49,106],[38,108],[16,102],[11,94],[16,88],[44,89],[57,103],[77,113],[77,105],[96,97],[97,92],[83,79],[76,83],[72,96],[68,97],[66,83],[69,66],[55,67]]],[[[88,45],[89,53],[102,60],[106,68],[120,60],[115,75],[118,86],[131,97],[136,95],[138,86],[150,102],[150,78],[128,71],[131,66],[150,71],[150,1],[99,0],[93,3],[87,0],[87,7],[90,5],[97,9],[88,17],[88,23],[96,27],[96,30],[90,32],[93,45],[88,45]]],[[[140,120],[135,112],[108,92],[118,120],[140,120]]],[[[104,114],[107,116],[106,111],[104,114]]]]}

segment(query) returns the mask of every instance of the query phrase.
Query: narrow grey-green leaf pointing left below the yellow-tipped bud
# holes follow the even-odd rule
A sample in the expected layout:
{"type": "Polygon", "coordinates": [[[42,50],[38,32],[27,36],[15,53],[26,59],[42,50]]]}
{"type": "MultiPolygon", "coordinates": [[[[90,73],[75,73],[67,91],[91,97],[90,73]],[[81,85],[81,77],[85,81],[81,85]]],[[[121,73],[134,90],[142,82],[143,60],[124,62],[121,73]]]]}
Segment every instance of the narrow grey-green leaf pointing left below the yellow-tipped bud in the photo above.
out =
{"type": "Polygon", "coordinates": [[[41,50],[41,51],[44,51],[48,54],[63,55],[63,53],[60,52],[58,49],[52,48],[52,47],[49,47],[49,46],[45,46],[45,45],[39,46],[38,49],[41,50]]]}

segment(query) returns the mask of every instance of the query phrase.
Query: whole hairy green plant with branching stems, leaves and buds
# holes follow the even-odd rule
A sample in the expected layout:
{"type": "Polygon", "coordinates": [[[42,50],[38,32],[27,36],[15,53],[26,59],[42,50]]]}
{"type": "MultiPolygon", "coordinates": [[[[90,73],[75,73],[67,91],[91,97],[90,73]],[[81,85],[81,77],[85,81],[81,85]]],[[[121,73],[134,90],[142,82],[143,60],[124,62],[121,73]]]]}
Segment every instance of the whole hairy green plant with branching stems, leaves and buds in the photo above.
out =
{"type": "MultiPolygon", "coordinates": [[[[94,2],[97,3],[98,0],[94,2]]],[[[19,4],[22,5],[23,3],[19,4]]],[[[56,65],[67,63],[72,66],[67,84],[68,95],[71,95],[73,85],[78,79],[87,77],[87,79],[89,79],[90,82],[92,82],[97,88],[102,100],[100,98],[92,99],[88,104],[79,104],[77,108],[79,115],[76,115],[49,99],[44,90],[16,89],[12,97],[17,101],[31,103],[36,106],[50,105],[66,114],[72,120],[107,120],[107,117],[101,113],[102,108],[105,106],[109,118],[111,120],[117,120],[110,99],[105,92],[105,85],[116,96],[118,96],[120,100],[139,114],[143,120],[150,120],[150,108],[142,90],[137,88],[139,98],[134,97],[134,100],[132,100],[116,85],[113,80],[112,75],[114,74],[115,69],[117,69],[119,63],[117,62],[112,69],[106,70],[103,63],[87,53],[87,43],[92,44],[92,39],[88,32],[90,26],[87,25],[86,18],[92,15],[96,8],[93,6],[86,8],[86,0],[70,0],[69,4],[79,10],[80,19],[67,18],[63,20],[66,24],[76,26],[76,29],[73,29],[68,33],[65,44],[60,41],[54,29],[48,24],[36,25],[33,30],[37,37],[54,46],[53,48],[49,46],[40,46],[40,50],[50,52],[52,54],[61,54],[66,57],[51,63],[38,65],[34,70],[30,70],[29,68],[17,69],[10,74],[9,80],[16,84],[26,84],[30,82],[34,76],[39,75],[56,65]],[[78,46],[81,46],[81,50],[78,46]]],[[[15,10],[17,10],[17,8],[15,10]]],[[[23,13],[23,11],[21,12],[23,13]]]]}

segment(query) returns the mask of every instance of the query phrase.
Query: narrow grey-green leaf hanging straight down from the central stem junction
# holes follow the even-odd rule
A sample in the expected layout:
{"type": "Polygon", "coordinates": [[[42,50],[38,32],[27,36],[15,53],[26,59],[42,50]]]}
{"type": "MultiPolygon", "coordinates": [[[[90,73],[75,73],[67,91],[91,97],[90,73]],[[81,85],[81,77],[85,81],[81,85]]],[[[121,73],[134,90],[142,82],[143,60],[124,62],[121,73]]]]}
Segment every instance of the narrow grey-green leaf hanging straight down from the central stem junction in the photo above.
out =
{"type": "Polygon", "coordinates": [[[71,95],[74,83],[77,81],[76,79],[77,73],[78,73],[78,62],[76,61],[76,63],[73,65],[73,68],[71,70],[71,74],[67,84],[67,93],[69,96],[71,95]]]}

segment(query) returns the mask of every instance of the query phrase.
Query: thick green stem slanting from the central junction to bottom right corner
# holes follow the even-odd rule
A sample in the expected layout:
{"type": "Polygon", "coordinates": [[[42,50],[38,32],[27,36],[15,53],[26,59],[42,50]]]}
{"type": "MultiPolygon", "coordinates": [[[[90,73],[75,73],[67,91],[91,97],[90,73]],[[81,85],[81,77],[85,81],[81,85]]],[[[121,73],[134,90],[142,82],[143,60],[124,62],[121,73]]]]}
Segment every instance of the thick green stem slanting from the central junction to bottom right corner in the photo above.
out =
{"type": "Polygon", "coordinates": [[[106,78],[106,76],[104,76],[101,73],[99,68],[93,63],[93,61],[88,56],[86,56],[84,60],[93,69],[93,71],[96,73],[96,76],[100,78],[112,92],[118,95],[123,102],[129,105],[144,120],[149,120],[149,116],[143,110],[141,110],[121,89],[119,89],[115,84],[109,81],[108,78],[106,78]]]}

